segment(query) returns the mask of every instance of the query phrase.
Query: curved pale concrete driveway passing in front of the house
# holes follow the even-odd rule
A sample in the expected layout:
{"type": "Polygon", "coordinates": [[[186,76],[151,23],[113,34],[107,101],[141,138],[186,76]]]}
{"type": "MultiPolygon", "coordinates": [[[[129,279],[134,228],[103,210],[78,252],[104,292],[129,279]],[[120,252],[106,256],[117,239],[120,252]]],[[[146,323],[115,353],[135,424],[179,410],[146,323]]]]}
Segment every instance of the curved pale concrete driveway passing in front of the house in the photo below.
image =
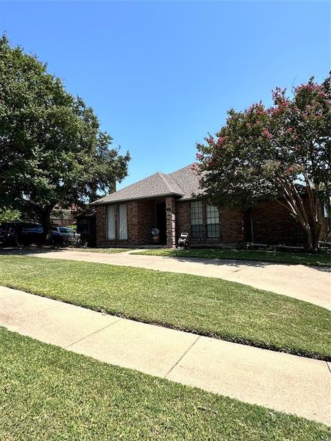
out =
{"type": "MultiPolygon", "coordinates": [[[[12,252],[11,254],[16,254],[12,252]]],[[[105,254],[79,250],[28,252],[26,256],[85,260],[88,262],[123,265],[170,271],[197,276],[216,277],[244,283],[331,309],[331,271],[303,265],[133,255],[130,252],[105,254]]]]}

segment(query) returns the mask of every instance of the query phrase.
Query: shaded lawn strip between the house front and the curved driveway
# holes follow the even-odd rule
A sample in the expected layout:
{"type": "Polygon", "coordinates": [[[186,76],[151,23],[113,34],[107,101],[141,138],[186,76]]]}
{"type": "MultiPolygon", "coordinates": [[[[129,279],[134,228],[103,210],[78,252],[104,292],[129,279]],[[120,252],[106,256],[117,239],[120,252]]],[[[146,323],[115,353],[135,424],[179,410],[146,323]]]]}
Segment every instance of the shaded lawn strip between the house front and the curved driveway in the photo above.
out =
{"type": "Polygon", "coordinates": [[[254,251],[245,249],[148,249],[132,254],[148,254],[148,256],[195,257],[208,259],[257,260],[259,262],[287,263],[290,265],[316,265],[331,267],[331,254],[305,254],[275,251],[254,251]]]}

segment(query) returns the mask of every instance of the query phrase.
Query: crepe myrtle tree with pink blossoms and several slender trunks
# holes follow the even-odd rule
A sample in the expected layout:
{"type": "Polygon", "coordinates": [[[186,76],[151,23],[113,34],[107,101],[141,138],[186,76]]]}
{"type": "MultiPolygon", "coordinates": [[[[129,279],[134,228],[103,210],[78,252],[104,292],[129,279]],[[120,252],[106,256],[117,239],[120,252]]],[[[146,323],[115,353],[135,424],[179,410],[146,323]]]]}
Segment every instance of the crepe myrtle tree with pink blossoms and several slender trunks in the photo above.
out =
{"type": "Polygon", "coordinates": [[[330,213],[330,83],[330,75],[321,83],[312,77],[291,97],[277,88],[271,107],[260,102],[230,110],[221,130],[197,145],[196,167],[210,203],[249,208],[275,200],[297,219],[312,252],[321,239],[321,203],[330,213]]]}

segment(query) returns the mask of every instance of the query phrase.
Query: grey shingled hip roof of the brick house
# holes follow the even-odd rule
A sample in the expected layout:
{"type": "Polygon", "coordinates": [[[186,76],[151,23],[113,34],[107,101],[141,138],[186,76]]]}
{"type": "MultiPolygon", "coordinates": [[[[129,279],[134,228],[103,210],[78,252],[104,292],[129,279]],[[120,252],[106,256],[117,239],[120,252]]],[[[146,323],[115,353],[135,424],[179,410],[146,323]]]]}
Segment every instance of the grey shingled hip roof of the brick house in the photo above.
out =
{"type": "Polygon", "coordinates": [[[160,172],[152,174],[148,178],[92,202],[91,205],[161,196],[177,196],[181,200],[187,200],[197,193],[199,193],[199,177],[197,172],[192,170],[191,164],[170,174],[160,172]]]}

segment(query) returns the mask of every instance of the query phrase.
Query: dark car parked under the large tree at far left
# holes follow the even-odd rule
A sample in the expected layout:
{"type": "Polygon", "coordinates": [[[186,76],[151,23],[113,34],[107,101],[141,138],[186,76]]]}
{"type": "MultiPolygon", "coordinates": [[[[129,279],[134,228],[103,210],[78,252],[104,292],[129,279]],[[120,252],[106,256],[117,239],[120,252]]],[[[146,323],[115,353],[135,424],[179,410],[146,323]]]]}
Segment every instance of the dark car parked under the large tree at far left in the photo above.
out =
{"type": "Polygon", "coordinates": [[[3,245],[30,245],[45,242],[43,226],[32,222],[4,222],[0,225],[0,242],[3,245]]]}

